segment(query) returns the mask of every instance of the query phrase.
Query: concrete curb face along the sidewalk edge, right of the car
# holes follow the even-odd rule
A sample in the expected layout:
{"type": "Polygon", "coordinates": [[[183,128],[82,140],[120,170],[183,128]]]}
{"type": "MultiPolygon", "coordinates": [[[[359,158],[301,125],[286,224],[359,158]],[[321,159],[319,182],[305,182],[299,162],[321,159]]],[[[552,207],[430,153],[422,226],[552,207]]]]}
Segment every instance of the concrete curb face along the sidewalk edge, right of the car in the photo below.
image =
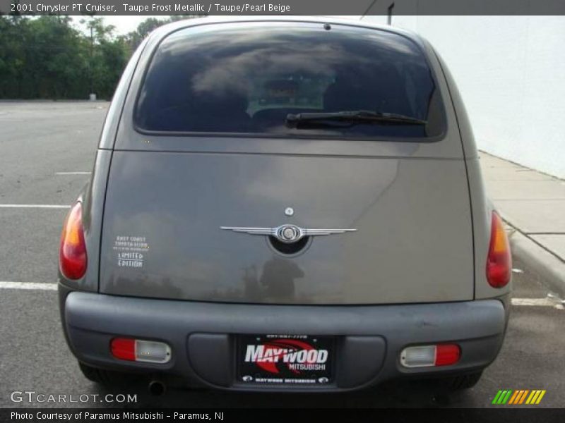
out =
{"type": "Polygon", "coordinates": [[[539,273],[559,298],[565,298],[565,263],[516,228],[509,235],[512,255],[539,273]]]}

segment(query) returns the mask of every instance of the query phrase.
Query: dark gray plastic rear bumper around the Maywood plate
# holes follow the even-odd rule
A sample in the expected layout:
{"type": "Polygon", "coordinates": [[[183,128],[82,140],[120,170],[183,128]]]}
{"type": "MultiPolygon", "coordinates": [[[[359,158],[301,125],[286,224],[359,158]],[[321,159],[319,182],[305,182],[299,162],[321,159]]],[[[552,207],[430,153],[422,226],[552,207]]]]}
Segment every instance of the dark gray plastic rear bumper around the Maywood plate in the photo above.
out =
{"type": "Polygon", "coordinates": [[[472,372],[487,367],[501,348],[508,314],[500,300],[418,305],[240,305],[128,298],[96,293],[61,295],[67,341],[81,362],[106,369],[180,376],[190,384],[237,390],[345,391],[404,376],[472,372]],[[240,333],[336,336],[335,381],[323,386],[264,386],[235,377],[240,333]],[[117,360],[115,336],[164,341],[167,364],[117,360]],[[445,367],[407,369],[408,345],[455,341],[460,361],[445,367]]]}

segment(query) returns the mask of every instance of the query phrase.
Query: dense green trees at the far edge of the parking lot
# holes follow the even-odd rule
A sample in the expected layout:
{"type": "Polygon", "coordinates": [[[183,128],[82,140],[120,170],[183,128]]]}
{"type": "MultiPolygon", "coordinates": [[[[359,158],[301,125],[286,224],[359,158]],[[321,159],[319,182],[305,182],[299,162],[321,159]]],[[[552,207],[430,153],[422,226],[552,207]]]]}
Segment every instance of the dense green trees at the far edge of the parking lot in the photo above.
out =
{"type": "Polygon", "coordinates": [[[194,17],[148,18],[117,37],[97,16],[85,16],[83,32],[69,16],[0,15],[0,98],[86,99],[95,92],[110,99],[131,52],[149,32],[194,17]]]}

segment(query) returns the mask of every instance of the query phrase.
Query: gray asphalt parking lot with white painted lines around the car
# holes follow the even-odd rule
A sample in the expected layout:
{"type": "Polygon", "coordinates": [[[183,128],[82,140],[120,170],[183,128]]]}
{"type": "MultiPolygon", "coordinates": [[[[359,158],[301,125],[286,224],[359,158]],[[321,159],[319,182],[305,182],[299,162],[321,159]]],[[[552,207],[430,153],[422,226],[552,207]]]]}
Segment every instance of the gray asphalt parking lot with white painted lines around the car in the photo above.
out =
{"type": "Polygon", "coordinates": [[[513,296],[522,300],[513,305],[504,347],[479,384],[462,394],[437,397],[424,385],[397,383],[331,396],[169,389],[154,397],[146,386],[107,391],[91,383],[64,341],[57,292],[29,283],[56,282],[65,207],[88,180],[107,106],[0,102],[0,407],[115,405],[14,403],[13,391],[75,398],[136,393],[137,403],[126,405],[136,407],[489,407],[500,389],[544,389],[535,407],[565,407],[565,310],[521,262],[514,263],[513,296]]]}

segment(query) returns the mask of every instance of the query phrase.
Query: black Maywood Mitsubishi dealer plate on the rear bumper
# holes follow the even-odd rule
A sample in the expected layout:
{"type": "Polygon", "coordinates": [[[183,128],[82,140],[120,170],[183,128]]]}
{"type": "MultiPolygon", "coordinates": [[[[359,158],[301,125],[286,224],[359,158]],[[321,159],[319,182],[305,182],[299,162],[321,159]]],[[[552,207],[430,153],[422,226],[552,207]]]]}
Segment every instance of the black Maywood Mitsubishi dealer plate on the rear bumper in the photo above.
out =
{"type": "Polygon", "coordinates": [[[333,350],[334,339],[328,336],[241,335],[237,379],[246,384],[329,384],[333,350]]]}

